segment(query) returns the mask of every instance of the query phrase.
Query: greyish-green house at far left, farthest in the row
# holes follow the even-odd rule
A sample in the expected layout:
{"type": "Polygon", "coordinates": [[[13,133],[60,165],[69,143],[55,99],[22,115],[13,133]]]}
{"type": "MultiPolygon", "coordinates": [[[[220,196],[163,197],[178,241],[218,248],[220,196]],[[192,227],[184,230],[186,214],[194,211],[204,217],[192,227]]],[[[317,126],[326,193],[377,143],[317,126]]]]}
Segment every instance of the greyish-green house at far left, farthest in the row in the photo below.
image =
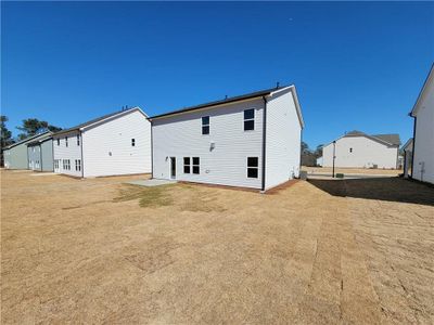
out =
{"type": "Polygon", "coordinates": [[[4,167],[7,169],[28,169],[27,144],[43,139],[50,131],[39,133],[7,146],[3,151],[4,167]]]}

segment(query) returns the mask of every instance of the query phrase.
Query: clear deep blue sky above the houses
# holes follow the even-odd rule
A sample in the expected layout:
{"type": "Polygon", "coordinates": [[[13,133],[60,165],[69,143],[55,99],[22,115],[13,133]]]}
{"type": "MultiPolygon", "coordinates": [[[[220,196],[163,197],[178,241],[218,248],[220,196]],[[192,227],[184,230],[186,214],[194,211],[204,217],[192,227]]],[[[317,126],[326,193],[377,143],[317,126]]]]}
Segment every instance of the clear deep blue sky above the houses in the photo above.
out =
{"type": "Polygon", "coordinates": [[[66,128],[297,87],[310,147],[412,134],[434,61],[430,2],[2,2],[1,112],[66,128]]]}

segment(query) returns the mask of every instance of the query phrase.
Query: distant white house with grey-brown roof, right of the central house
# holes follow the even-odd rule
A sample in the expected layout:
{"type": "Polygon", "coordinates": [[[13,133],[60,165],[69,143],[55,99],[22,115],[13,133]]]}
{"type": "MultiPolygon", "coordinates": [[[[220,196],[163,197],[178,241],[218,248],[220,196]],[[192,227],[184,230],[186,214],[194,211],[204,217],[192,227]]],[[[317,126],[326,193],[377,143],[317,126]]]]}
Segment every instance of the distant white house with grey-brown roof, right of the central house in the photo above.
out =
{"type": "Polygon", "coordinates": [[[352,131],[322,148],[323,167],[392,168],[398,167],[398,134],[368,135],[352,131]]]}

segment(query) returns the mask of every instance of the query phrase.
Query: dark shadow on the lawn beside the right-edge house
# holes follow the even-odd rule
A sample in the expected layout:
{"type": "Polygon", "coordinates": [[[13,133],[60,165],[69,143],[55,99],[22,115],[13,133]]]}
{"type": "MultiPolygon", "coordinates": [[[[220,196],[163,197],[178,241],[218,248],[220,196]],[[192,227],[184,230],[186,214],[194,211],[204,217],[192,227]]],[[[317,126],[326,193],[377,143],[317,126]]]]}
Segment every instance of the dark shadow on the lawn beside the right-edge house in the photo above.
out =
{"type": "Polygon", "coordinates": [[[399,178],[308,180],[308,182],[333,196],[434,206],[433,187],[399,178]]]}

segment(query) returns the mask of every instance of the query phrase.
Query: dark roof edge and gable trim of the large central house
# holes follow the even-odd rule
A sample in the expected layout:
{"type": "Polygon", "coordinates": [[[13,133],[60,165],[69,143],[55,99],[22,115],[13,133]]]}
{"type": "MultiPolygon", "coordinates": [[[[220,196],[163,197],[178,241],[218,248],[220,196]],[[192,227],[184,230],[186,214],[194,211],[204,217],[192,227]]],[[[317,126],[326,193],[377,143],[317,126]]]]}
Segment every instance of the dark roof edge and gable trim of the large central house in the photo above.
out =
{"type": "Polygon", "coordinates": [[[189,107],[184,107],[184,108],[181,108],[181,109],[176,109],[176,110],[171,110],[171,112],[168,112],[168,113],[154,115],[154,116],[151,116],[150,119],[152,120],[152,119],[157,119],[157,118],[167,117],[167,116],[171,116],[171,115],[189,113],[189,112],[193,112],[193,110],[197,110],[197,109],[202,109],[202,108],[210,108],[213,106],[218,106],[218,105],[224,105],[224,104],[229,104],[229,103],[234,103],[234,102],[240,102],[240,101],[245,101],[245,100],[252,100],[252,99],[261,98],[261,96],[265,96],[265,95],[271,95],[271,94],[273,94],[276,92],[279,92],[279,91],[282,91],[282,90],[285,90],[285,89],[293,90],[294,101],[295,101],[295,106],[296,106],[296,109],[297,109],[299,123],[302,125],[302,128],[303,128],[304,127],[304,120],[303,120],[302,110],[301,110],[301,107],[299,107],[298,98],[297,98],[294,84],[275,87],[275,88],[259,90],[259,91],[255,91],[255,92],[251,92],[251,93],[246,93],[246,94],[242,94],[242,95],[237,95],[237,96],[232,96],[232,98],[226,98],[226,99],[219,100],[219,101],[213,101],[213,102],[207,102],[207,103],[203,103],[203,104],[199,104],[199,105],[194,105],[194,106],[189,106],[189,107]]]}

